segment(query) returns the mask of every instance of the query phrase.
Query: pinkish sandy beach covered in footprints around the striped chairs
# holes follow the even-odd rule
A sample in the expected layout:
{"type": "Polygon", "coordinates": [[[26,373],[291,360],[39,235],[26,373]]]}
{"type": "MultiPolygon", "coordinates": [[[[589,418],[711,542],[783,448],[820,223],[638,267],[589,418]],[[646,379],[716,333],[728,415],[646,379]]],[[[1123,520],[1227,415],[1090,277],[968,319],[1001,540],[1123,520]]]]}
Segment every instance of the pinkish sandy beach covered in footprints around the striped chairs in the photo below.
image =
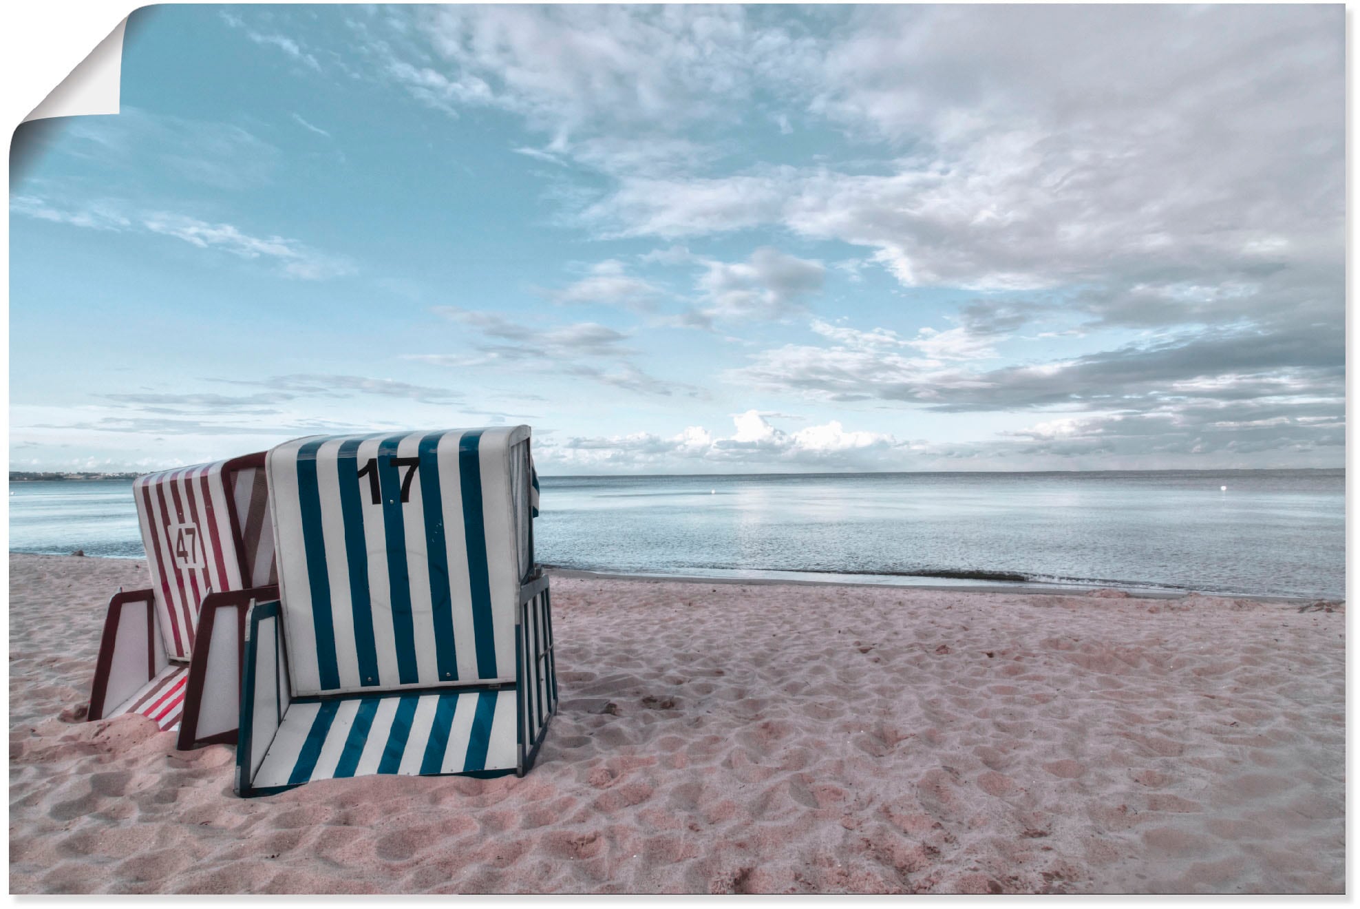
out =
{"type": "Polygon", "coordinates": [[[1345,614],[555,578],[525,778],[231,793],[79,721],[140,562],[10,558],[12,893],[1342,893],[1345,614]]]}

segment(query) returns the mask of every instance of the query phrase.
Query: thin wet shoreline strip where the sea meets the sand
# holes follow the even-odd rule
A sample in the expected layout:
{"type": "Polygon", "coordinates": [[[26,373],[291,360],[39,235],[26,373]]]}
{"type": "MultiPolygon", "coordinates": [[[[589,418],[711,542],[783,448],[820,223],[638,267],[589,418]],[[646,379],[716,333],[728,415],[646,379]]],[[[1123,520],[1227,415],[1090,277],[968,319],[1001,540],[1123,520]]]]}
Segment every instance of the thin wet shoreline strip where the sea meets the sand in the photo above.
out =
{"type": "MultiPolygon", "coordinates": [[[[113,562],[137,562],[146,557],[139,555],[82,555],[73,557],[71,552],[23,552],[18,550],[10,550],[10,555],[23,555],[23,557],[37,557],[37,558],[90,558],[90,559],[109,559],[113,562]]],[[[1132,582],[1072,582],[1072,584],[1044,584],[1042,581],[1024,581],[1024,582],[1005,582],[1005,584],[989,584],[985,580],[971,580],[971,578],[945,578],[940,576],[891,576],[891,574],[874,574],[872,572],[808,572],[806,574],[820,574],[823,577],[741,577],[732,574],[665,574],[654,572],[596,572],[589,569],[573,569],[562,567],[558,565],[544,565],[544,572],[551,577],[562,578],[577,578],[577,580],[605,580],[605,581],[647,581],[647,582],[661,582],[661,581],[675,581],[680,584],[737,584],[737,585],[755,585],[755,586],[854,586],[854,588],[869,588],[869,589],[903,589],[903,591],[932,591],[940,593],[1019,593],[1019,595],[1069,595],[1069,596],[1089,596],[1098,591],[1117,591],[1119,593],[1127,595],[1132,599],[1144,600],[1180,600],[1190,596],[1212,596],[1231,600],[1248,600],[1253,603],[1345,603],[1344,596],[1327,596],[1327,595],[1291,595],[1291,593],[1236,593],[1231,591],[1212,591],[1212,589],[1172,589],[1160,586],[1141,586],[1132,582]],[[857,577],[881,577],[889,578],[884,581],[857,581],[857,577]],[[917,582],[914,580],[896,580],[896,578],[921,578],[923,582],[917,582]],[[930,584],[932,580],[949,580],[948,584],[930,584]]],[[[740,569],[737,569],[740,570],[740,569]]],[[[759,569],[753,569],[759,570],[759,569]]],[[[775,569],[770,569],[774,572],[775,569]]],[[[787,574],[798,574],[796,572],[789,572],[787,574]]]]}

